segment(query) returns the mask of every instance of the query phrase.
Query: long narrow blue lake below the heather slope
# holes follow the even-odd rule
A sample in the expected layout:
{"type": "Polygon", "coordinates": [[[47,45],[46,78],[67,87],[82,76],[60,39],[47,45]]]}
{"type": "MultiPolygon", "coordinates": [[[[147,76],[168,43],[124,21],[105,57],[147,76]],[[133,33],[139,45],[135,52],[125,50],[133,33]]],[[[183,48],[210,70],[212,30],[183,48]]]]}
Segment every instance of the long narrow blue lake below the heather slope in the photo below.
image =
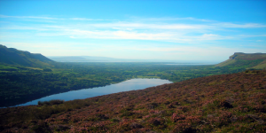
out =
{"type": "Polygon", "coordinates": [[[74,99],[84,99],[96,96],[102,96],[122,91],[129,90],[143,90],[148,87],[158,86],[165,83],[172,83],[168,80],[161,79],[131,79],[125,82],[119,82],[104,87],[96,87],[92,89],[82,89],[82,90],[72,90],[64,93],[54,94],[44,98],[35,99],[33,101],[27,102],[25,104],[20,104],[17,106],[29,106],[38,105],[38,101],[49,101],[51,99],[61,99],[65,101],[74,99]]]}

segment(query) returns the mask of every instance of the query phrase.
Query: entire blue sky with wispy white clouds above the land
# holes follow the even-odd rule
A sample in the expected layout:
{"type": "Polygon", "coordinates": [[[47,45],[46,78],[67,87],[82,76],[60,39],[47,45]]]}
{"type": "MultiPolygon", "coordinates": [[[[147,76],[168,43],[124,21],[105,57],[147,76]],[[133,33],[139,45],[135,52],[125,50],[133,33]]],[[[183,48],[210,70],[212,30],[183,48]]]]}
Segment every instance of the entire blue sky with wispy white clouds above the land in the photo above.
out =
{"type": "Polygon", "coordinates": [[[266,53],[266,1],[0,0],[0,44],[44,56],[223,61],[266,53]]]}

